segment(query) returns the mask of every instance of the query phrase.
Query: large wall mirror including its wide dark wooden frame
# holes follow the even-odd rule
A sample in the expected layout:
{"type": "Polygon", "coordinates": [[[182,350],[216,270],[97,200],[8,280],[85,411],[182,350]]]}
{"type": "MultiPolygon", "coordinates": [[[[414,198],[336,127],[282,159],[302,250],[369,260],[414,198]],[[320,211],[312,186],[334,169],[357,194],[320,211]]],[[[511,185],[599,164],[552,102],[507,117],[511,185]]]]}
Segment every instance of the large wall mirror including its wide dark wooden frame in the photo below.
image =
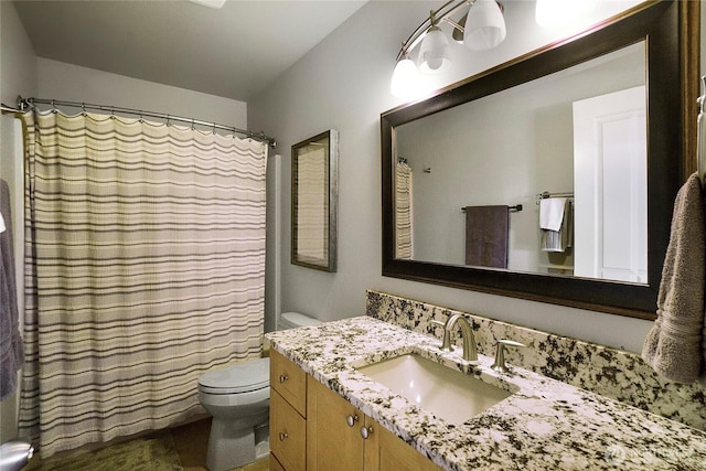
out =
{"type": "Polygon", "coordinates": [[[383,275],[654,319],[693,168],[689,3],[639,6],[383,113],[383,275]]]}

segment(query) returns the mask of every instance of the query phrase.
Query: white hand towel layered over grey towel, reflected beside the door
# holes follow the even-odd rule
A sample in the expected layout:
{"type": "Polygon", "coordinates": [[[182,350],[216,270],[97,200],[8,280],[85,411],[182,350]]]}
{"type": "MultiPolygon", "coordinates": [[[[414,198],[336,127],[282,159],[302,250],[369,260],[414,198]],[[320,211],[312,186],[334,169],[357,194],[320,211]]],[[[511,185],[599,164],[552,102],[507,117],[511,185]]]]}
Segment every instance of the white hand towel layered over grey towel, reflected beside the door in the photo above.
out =
{"type": "Polygon", "coordinates": [[[541,249],[566,251],[574,238],[574,204],[566,197],[539,200],[541,249]]]}

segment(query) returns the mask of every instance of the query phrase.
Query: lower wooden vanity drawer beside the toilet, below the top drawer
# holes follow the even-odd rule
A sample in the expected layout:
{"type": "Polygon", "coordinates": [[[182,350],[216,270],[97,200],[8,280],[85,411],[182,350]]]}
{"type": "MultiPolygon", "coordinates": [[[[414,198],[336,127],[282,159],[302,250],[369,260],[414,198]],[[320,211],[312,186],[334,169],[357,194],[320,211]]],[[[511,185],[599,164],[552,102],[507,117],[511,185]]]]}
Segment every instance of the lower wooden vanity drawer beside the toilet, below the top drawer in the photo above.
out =
{"type": "Polygon", "coordinates": [[[269,447],[287,471],[304,471],[307,421],[276,390],[270,390],[269,447]]]}

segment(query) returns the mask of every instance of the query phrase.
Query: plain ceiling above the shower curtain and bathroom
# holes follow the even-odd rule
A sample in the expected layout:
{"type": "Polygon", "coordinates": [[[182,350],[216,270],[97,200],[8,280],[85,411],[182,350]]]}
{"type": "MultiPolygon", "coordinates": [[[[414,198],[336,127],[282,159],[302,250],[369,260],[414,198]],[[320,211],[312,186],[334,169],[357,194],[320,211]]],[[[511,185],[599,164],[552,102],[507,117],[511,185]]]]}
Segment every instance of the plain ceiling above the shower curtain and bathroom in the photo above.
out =
{"type": "Polygon", "coordinates": [[[15,0],[40,57],[248,101],[365,0],[15,0]]]}

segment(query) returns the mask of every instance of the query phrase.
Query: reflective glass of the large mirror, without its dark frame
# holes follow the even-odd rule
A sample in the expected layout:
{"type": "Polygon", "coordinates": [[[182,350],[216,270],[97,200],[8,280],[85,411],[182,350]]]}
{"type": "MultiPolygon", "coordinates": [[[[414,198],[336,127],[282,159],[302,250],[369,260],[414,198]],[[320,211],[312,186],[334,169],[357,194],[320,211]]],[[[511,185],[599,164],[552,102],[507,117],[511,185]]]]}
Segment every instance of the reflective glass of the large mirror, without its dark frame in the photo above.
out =
{"type": "Polygon", "coordinates": [[[397,126],[397,257],[646,282],[645,54],[397,126]]]}

